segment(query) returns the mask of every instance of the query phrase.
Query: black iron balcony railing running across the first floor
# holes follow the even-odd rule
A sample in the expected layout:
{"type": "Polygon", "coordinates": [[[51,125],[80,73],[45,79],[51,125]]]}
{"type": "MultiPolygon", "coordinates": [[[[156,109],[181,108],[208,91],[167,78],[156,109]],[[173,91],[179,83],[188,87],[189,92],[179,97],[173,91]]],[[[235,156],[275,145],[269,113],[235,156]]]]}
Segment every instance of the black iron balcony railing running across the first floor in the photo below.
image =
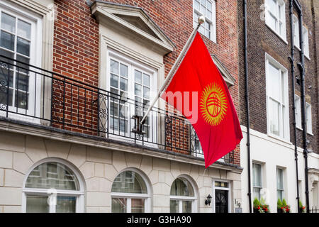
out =
{"type": "MultiPolygon", "coordinates": [[[[0,116],[203,157],[194,128],[176,111],[147,103],[0,55],[0,116]]],[[[219,160],[235,164],[234,151],[219,160]]]]}

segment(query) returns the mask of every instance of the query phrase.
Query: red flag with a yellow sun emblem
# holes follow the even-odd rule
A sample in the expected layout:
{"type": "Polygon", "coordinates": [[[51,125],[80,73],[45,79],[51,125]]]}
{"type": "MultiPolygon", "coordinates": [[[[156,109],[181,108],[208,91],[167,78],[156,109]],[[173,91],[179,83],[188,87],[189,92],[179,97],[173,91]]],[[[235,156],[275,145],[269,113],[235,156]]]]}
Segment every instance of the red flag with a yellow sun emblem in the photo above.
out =
{"type": "Polygon", "coordinates": [[[197,105],[193,106],[198,110],[193,113],[197,121],[192,125],[203,148],[206,168],[240,143],[242,131],[233,100],[198,32],[162,99],[188,119],[194,116],[188,116],[185,105],[197,105]],[[183,101],[175,102],[171,92],[181,94],[183,101]]]}

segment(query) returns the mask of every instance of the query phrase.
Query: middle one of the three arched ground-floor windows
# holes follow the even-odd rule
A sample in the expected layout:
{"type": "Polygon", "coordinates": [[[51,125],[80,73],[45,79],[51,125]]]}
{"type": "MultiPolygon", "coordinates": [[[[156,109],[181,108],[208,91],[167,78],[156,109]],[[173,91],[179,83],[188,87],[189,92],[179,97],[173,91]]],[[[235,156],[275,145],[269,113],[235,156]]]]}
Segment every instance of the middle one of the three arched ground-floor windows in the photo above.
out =
{"type": "Polygon", "coordinates": [[[150,189],[138,172],[126,170],[114,179],[112,213],[150,212],[150,189]]]}

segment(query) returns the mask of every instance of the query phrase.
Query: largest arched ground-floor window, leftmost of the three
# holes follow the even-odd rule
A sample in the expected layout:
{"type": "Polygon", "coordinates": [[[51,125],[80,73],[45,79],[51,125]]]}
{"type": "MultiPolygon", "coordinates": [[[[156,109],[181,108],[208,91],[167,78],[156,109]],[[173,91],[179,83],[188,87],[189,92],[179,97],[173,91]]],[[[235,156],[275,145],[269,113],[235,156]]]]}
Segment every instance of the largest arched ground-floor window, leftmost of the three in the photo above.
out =
{"type": "Polygon", "coordinates": [[[42,162],[31,170],[23,187],[26,213],[84,211],[84,189],[79,175],[65,162],[42,162]]]}

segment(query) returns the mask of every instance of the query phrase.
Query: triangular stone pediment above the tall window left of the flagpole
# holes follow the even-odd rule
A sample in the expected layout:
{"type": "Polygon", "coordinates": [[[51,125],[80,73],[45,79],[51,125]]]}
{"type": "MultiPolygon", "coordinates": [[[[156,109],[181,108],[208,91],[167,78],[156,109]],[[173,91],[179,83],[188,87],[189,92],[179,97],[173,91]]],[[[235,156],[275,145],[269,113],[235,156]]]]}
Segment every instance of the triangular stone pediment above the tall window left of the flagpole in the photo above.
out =
{"type": "Polygon", "coordinates": [[[91,13],[96,16],[99,23],[115,26],[119,32],[122,30],[130,33],[132,37],[142,40],[145,45],[156,47],[162,55],[174,50],[172,40],[140,7],[95,1],[91,5],[91,13]]]}

